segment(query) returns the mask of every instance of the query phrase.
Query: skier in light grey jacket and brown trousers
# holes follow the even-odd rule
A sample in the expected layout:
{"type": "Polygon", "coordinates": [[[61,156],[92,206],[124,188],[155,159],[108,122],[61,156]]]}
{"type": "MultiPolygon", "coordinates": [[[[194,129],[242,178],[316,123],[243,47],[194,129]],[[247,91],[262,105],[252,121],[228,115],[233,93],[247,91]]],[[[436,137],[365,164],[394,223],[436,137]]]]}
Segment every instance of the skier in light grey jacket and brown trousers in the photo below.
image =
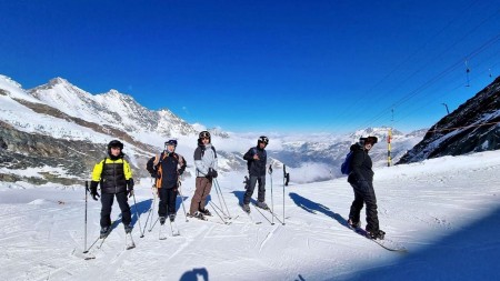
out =
{"type": "Polygon", "coordinates": [[[217,151],[208,131],[199,134],[198,148],[194,150],[194,165],[197,167],[196,190],[191,199],[189,215],[202,220],[203,215],[212,215],[206,208],[207,197],[212,189],[213,179],[218,175],[217,151]]]}

